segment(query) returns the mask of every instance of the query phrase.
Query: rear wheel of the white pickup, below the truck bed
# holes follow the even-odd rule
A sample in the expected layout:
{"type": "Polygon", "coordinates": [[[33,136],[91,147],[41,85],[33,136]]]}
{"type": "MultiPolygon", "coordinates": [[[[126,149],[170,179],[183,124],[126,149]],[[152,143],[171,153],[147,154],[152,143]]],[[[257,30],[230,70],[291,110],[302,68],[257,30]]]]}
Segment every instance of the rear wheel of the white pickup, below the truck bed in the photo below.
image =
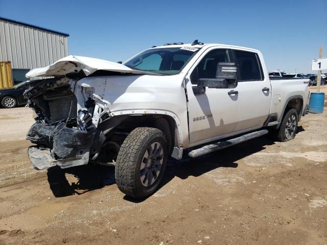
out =
{"type": "Polygon", "coordinates": [[[283,117],[281,126],[270,132],[277,141],[289,141],[294,139],[297,130],[298,115],[295,109],[287,111],[283,117]]]}

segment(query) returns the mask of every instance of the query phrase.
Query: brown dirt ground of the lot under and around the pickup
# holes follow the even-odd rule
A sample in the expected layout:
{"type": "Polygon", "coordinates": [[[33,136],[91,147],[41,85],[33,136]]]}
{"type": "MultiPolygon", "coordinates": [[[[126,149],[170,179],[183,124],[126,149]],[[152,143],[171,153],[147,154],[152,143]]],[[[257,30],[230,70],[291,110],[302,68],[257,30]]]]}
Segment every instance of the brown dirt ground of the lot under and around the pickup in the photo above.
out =
{"type": "Polygon", "coordinates": [[[169,161],[143,201],[114,168],[34,170],[28,108],[0,109],[0,244],[327,244],[327,108],[289,142],[169,161]]]}

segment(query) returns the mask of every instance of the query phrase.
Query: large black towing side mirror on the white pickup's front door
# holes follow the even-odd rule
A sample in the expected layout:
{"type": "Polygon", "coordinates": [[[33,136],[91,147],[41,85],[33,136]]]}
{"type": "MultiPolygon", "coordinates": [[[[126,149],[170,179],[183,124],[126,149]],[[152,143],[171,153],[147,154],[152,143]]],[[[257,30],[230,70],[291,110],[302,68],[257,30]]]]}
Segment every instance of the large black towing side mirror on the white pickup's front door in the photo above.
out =
{"type": "Polygon", "coordinates": [[[216,78],[198,79],[198,86],[208,88],[235,88],[237,86],[237,66],[231,62],[217,64],[216,78]]]}

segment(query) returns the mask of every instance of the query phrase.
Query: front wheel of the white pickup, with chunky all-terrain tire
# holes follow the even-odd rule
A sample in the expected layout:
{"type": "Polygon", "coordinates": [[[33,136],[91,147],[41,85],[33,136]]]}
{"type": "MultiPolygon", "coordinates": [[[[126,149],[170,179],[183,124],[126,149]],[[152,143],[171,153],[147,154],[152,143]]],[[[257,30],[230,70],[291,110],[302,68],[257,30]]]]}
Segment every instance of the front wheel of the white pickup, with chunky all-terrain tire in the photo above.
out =
{"type": "Polygon", "coordinates": [[[124,140],[116,160],[118,188],[136,199],[153,194],[164,175],[167,157],[167,140],[160,130],[134,129],[124,140]]]}

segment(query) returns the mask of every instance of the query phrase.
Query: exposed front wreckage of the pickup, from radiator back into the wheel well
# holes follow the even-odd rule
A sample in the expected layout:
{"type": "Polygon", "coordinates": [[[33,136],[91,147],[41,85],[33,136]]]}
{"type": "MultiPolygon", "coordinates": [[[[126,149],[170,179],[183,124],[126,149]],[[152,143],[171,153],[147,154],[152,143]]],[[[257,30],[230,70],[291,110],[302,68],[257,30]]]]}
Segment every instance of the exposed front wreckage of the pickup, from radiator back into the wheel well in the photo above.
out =
{"type": "Polygon", "coordinates": [[[34,80],[24,92],[35,112],[36,122],[27,139],[37,144],[28,150],[36,169],[54,165],[67,168],[89,161],[114,164],[120,144],[128,135],[124,131],[110,135],[109,131],[128,116],[109,121],[107,106],[93,94],[94,89],[76,86],[78,80],[76,76],[34,80]],[[84,105],[77,102],[77,89],[81,89],[84,105]]]}

